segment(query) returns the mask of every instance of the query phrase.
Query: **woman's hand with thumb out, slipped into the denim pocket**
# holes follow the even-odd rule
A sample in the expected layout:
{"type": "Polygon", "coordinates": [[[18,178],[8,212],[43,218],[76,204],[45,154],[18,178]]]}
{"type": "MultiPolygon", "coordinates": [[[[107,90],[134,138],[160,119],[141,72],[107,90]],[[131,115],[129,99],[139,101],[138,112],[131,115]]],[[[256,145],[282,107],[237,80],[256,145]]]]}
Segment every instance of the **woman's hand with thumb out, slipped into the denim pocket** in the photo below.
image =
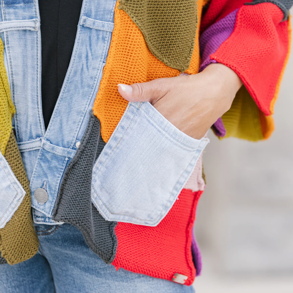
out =
{"type": "Polygon", "coordinates": [[[120,95],[131,102],[150,102],[185,134],[201,139],[231,107],[241,87],[238,75],[223,64],[210,64],[188,76],[154,79],[118,85],[120,95]]]}

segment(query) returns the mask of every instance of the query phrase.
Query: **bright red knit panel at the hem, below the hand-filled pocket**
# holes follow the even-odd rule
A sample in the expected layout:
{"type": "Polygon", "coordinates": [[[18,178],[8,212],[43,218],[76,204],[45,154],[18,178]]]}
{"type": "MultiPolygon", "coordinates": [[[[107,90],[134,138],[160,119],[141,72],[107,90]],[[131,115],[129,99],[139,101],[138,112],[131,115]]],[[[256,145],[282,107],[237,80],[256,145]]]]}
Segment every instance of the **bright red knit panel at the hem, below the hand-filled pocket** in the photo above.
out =
{"type": "Polygon", "coordinates": [[[185,285],[191,285],[195,278],[192,228],[201,194],[202,191],[183,189],[179,200],[156,227],[118,222],[118,248],[112,264],[166,280],[180,273],[188,277],[185,285]]]}

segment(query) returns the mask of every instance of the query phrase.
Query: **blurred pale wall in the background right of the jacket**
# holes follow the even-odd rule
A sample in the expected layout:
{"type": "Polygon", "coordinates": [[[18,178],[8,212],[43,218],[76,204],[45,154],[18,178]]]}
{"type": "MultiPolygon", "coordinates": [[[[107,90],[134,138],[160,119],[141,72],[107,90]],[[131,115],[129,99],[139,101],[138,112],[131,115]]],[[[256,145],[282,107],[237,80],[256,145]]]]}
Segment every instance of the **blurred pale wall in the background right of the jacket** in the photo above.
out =
{"type": "Polygon", "coordinates": [[[209,133],[195,224],[203,254],[197,293],[293,293],[293,53],[274,119],[263,142],[209,133]]]}

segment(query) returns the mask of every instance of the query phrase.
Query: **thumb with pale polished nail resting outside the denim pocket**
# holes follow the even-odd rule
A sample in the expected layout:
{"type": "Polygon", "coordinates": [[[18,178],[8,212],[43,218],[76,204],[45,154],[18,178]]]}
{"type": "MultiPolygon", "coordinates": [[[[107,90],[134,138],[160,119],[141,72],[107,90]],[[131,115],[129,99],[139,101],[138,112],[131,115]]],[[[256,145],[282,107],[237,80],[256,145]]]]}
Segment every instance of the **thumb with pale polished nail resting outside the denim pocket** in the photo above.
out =
{"type": "Polygon", "coordinates": [[[154,79],[137,84],[118,84],[122,98],[130,102],[150,102],[154,104],[168,92],[166,79],[154,79]]]}

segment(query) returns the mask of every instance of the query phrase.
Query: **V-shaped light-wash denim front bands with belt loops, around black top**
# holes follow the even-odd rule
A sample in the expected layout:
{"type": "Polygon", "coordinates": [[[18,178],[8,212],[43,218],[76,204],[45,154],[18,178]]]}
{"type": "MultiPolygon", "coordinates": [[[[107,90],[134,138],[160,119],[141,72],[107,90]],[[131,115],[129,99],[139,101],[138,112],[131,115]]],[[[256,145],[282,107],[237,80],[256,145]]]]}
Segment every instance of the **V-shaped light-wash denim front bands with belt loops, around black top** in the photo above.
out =
{"type": "MultiPolygon", "coordinates": [[[[56,224],[51,219],[52,210],[64,170],[91,115],[110,47],[115,4],[115,0],[83,1],[69,68],[45,131],[38,1],[0,0],[4,64],[16,106],[13,126],[30,181],[36,223],[56,224]],[[35,199],[37,188],[47,191],[47,202],[35,199]]],[[[2,197],[4,202],[9,200],[6,196],[1,195],[0,201],[2,197]]],[[[16,204],[12,206],[16,209],[16,204]]]]}

